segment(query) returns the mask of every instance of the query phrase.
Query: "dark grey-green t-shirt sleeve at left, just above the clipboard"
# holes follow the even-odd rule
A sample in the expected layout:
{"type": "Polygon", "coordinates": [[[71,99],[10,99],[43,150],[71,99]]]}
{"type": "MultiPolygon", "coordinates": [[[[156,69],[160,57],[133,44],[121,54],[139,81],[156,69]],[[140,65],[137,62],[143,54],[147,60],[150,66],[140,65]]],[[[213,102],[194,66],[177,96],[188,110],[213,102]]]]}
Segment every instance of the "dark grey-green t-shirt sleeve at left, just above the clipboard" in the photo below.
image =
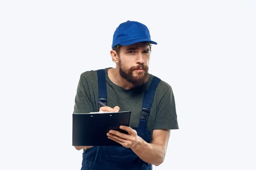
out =
{"type": "Polygon", "coordinates": [[[81,74],[77,86],[75,106],[73,113],[90,113],[93,112],[93,104],[90,97],[90,89],[87,79],[81,74]]]}

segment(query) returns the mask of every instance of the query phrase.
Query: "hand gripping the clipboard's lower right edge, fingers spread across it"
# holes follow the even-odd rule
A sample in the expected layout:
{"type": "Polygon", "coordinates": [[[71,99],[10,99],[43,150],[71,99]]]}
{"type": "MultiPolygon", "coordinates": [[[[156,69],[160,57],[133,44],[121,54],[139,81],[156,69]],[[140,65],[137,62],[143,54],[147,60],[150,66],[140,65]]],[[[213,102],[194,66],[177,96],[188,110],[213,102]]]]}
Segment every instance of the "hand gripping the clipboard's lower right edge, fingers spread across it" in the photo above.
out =
{"type": "Polygon", "coordinates": [[[140,139],[142,138],[137,136],[136,130],[128,126],[120,126],[120,129],[127,131],[128,134],[116,130],[109,130],[109,133],[107,133],[108,139],[112,139],[127,148],[135,147],[140,143],[140,139]]]}

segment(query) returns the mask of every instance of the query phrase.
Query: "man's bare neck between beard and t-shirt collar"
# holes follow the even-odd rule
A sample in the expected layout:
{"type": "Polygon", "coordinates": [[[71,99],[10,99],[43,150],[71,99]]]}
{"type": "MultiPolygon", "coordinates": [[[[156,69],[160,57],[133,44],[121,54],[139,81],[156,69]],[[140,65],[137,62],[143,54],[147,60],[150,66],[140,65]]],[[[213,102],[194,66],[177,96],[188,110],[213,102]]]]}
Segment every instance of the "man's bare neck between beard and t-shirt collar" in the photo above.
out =
{"type": "Polygon", "coordinates": [[[122,78],[119,74],[119,68],[109,68],[108,69],[108,77],[109,79],[119,87],[129,90],[131,88],[134,88],[134,85],[132,85],[130,82],[128,82],[126,79],[122,78]]]}

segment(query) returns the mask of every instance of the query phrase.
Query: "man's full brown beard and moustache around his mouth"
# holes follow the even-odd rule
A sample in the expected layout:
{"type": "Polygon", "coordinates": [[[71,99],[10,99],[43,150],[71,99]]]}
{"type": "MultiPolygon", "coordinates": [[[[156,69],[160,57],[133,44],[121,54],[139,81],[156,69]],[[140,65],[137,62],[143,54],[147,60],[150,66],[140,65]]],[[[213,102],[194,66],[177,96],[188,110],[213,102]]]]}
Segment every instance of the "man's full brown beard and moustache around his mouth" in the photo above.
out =
{"type": "Polygon", "coordinates": [[[148,74],[148,66],[147,65],[137,65],[137,66],[132,66],[131,68],[125,67],[121,60],[119,60],[119,74],[122,78],[126,79],[129,83],[132,85],[140,86],[148,82],[149,79],[149,74],[148,74]],[[137,75],[133,75],[133,71],[143,68],[143,72],[137,72],[137,75]]]}

